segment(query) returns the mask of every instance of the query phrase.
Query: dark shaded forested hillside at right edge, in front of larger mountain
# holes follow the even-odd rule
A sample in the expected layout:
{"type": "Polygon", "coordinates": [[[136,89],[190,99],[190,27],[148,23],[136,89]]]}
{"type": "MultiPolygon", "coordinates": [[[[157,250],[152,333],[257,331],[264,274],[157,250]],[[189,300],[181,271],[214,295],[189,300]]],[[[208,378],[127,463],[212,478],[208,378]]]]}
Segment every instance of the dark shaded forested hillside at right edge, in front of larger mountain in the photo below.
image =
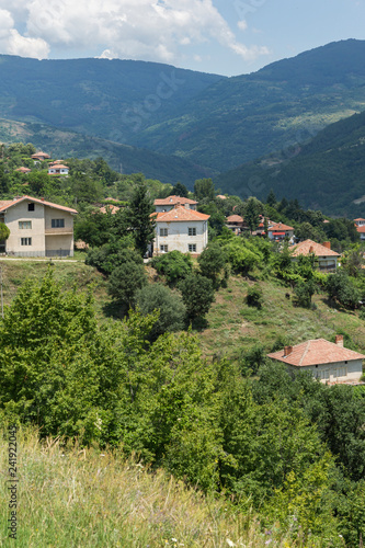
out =
{"type": "Polygon", "coordinates": [[[365,216],[365,112],[322,129],[307,145],[248,162],[219,175],[224,192],[299,199],[328,215],[365,216]],[[249,184],[252,181],[254,184],[249,184]]]}

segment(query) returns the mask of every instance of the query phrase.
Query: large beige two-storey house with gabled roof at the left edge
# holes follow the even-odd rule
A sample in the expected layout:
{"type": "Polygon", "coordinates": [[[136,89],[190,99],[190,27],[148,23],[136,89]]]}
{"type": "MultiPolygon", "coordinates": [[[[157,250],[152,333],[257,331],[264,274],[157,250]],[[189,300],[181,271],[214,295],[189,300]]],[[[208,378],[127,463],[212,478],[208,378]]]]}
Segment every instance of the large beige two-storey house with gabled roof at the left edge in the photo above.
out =
{"type": "Polygon", "coordinates": [[[26,195],[0,201],[0,222],[10,229],[8,240],[0,243],[1,252],[15,256],[72,256],[77,213],[26,195]]]}

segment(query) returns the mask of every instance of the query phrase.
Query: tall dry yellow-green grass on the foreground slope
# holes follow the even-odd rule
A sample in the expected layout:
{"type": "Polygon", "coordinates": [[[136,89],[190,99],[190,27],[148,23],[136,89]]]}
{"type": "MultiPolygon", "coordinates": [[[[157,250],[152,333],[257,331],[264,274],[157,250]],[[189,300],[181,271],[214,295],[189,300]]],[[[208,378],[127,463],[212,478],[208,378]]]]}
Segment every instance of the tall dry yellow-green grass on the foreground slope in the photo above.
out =
{"type": "MultiPolygon", "coordinates": [[[[43,547],[305,546],[275,528],[262,532],[252,513],[204,496],[162,470],[153,473],[122,455],[39,443],[18,432],[18,538],[9,538],[8,443],[1,439],[0,545],[43,547]]],[[[313,545],[312,545],[313,546],[313,545]]]]}

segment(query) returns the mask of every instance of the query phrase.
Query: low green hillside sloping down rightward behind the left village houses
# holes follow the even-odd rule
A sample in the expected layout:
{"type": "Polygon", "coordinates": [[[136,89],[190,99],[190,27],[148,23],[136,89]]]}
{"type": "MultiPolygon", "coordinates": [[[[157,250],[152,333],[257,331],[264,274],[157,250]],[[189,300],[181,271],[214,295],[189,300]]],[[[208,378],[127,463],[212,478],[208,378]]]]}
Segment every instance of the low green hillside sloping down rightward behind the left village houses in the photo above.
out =
{"type": "Polygon", "coordinates": [[[39,123],[0,118],[0,141],[5,145],[32,142],[35,147],[47,150],[54,158],[92,160],[103,157],[115,171],[141,172],[148,179],[158,179],[163,183],[174,184],[181,181],[189,187],[192,187],[195,179],[213,174],[210,170],[199,168],[183,158],[169,157],[39,123]]]}

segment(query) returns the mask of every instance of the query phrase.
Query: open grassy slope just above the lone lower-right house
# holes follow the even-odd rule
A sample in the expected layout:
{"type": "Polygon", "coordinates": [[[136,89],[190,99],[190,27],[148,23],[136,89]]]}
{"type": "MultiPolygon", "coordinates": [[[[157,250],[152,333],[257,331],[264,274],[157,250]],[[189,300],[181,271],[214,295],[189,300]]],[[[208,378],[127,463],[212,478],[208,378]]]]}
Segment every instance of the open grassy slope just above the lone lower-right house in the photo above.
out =
{"type": "Polygon", "coordinates": [[[365,352],[365,322],[356,312],[329,308],[324,295],[315,295],[317,310],[295,307],[285,297],[293,293],[272,281],[259,282],[264,294],[262,310],[244,302],[253,282],[232,277],[228,289],[220,289],[207,316],[208,329],[201,333],[202,349],[207,356],[227,355],[237,358],[240,350],[262,343],[269,352],[278,336],[288,336],[293,344],[308,339],[330,340],[339,332],[347,333],[356,347],[365,352]]]}

